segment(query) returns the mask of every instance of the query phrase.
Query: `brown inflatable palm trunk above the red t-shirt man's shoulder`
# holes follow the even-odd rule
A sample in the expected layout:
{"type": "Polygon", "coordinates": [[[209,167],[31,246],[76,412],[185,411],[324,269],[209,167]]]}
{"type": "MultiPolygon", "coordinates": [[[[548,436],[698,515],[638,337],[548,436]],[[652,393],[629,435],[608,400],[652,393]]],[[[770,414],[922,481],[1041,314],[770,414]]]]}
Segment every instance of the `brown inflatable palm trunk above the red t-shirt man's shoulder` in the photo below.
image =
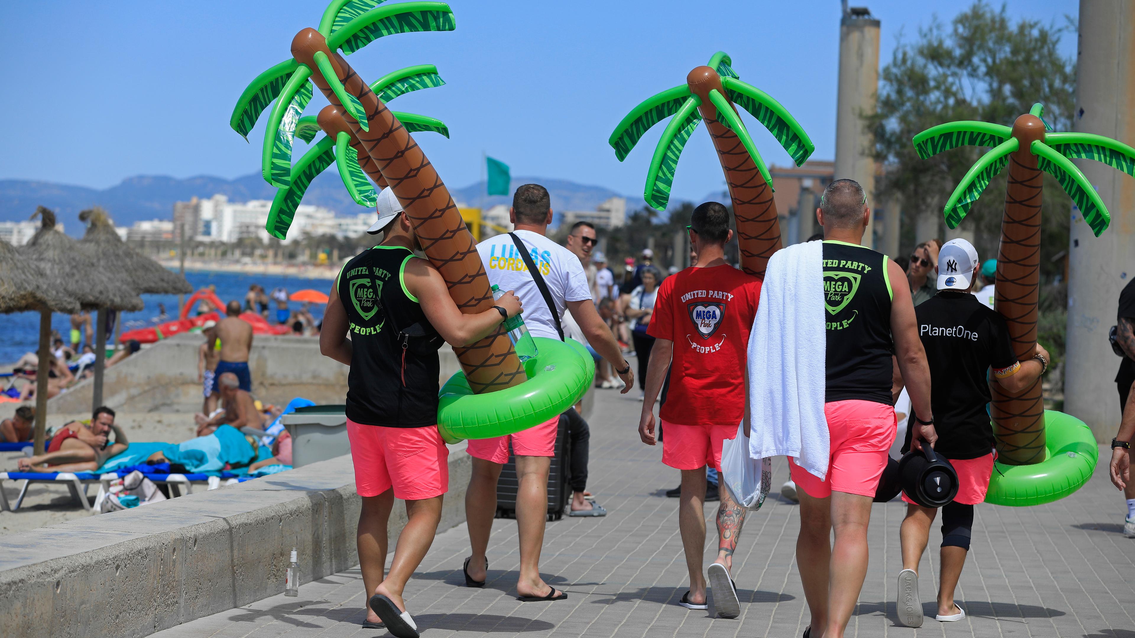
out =
{"type": "MultiPolygon", "coordinates": [[[[717,120],[717,108],[709,101],[709,91],[716,89],[722,95],[726,95],[726,100],[729,95],[717,72],[707,66],[697,67],[690,72],[686,82],[690,92],[701,100],[698,112],[713,137],[721,169],[725,173],[729,196],[733,200],[733,217],[737,218],[741,269],[749,275],[764,277],[768,258],[782,247],[773,190],[768,187],[737,133],[717,120]]],[[[737,110],[735,107],[733,110],[737,110]]]]}

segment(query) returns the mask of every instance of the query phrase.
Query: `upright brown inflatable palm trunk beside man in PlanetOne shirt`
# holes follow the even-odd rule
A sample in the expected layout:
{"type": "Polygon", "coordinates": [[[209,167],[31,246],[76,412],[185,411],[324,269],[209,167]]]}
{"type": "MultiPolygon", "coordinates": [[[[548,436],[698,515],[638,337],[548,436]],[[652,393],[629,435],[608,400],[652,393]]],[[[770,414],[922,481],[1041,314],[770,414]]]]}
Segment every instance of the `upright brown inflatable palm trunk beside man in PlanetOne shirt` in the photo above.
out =
{"type": "MultiPolygon", "coordinates": [[[[1041,275],[1041,192],[1044,173],[1032,152],[1034,140],[1044,140],[1044,123],[1023,115],[1012,125],[1020,148],[1009,156],[1009,185],[1001,220],[994,305],[1006,319],[1012,350],[1020,361],[1036,352],[1036,304],[1041,275]]],[[[1002,463],[1027,465],[1044,460],[1044,397],[1041,379],[1010,394],[990,384],[993,431],[1002,463]]]]}

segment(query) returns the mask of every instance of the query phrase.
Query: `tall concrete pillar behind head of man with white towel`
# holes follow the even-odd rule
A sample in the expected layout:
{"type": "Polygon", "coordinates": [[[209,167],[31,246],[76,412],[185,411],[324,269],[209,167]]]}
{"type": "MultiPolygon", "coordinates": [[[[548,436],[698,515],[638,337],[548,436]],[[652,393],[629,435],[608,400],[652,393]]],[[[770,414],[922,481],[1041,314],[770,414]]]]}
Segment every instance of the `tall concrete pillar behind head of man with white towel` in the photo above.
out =
{"type": "MultiPolygon", "coordinates": [[[[840,20],[840,73],[835,111],[835,179],[855,179],[875,207],[875,160],[872,137],[864,129],[863,116],[875,112],[878,91],[878,20],[861,7],[843,3],[840,20]]],[[[873,224],[872,224],[873,226],[873,224]]],[[[805,236],[804,238],[807,238],[805,236]]],[[[868,226],[864,242],[874,243],[868,226]]]]}

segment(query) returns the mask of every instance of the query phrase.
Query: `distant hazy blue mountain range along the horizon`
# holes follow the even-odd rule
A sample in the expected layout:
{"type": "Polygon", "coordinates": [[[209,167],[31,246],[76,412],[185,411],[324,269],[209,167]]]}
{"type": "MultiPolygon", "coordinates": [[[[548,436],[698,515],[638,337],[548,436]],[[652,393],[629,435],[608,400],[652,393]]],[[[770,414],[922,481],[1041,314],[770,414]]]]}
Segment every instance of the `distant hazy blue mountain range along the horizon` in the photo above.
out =
{"type": "MultiPolygon", "coordinates": [[[[563,210],[594,210],[608,198],[623,196],[603,186],[577,184],[566,179],[546,177],[516,177],[510,190],[521,184],[537,183],[548,188],[552,208],[563,210]]],[[[508,204],[512,196],[481,196],[485,182],[470,184],[452,191],[453,198],[462,204],[489,208],[498,203],[508,204]]],[[[36,205],[45,205],[56,211],[66,225],[68,234],[82,235],[83,226],[76,216],[85,208],[100,205],[110,212],[118,226],[132,226],[142,219],[173,219],[174,202],[190,198],[211,198],[220,193],[230,201],[270,200],[276,188],[269,186],[260,174],[245,175],[236,179],[199,176],[186,179],[160,175],[128,177],[110,188],[96,190],[85,186],[34,182],[27,179],[0,179],[0,221],[27,219],[36,205]]],[[[336,171],[326,171],[312,181],[304,203],[327,207],[339,215],[353,215],[363,209],[347,195],[336,171]]],[[[628,213],[645,205],[641,199],[628,198],[628,213]]]]}

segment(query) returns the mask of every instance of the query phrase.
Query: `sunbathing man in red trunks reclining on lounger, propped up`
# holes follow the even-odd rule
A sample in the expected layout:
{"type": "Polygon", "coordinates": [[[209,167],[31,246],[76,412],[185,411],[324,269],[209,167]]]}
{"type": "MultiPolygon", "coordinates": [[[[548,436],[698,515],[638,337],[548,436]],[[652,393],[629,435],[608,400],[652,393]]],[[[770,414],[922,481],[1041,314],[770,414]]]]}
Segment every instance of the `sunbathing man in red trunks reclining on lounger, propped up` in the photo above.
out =
{"type": "Polygon", "coordinates": [[[95,408],[91,425],[72,421],[53,437],[45,454],[17,461],[22,472],[93,472],[107,459],[126,451],[129,440],[115,425],[115,411],[95,408]],[[115,443],[107,435],[115,433],[115,443]]]}

